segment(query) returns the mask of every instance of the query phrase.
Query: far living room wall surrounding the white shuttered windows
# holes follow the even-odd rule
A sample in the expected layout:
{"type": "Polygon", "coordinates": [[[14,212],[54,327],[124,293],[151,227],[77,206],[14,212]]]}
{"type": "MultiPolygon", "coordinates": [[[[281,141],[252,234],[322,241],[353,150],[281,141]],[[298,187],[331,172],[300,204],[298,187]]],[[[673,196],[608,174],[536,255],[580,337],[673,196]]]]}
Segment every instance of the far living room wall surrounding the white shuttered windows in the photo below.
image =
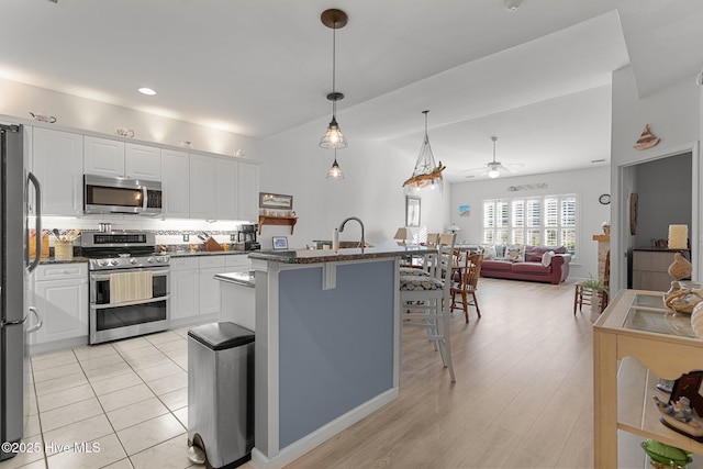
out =
{"type": "Polygon", "coordinates": [[[602,205],[598,199],[610,193],[610,168],[601,166],[578,171],[549,172],[537,176],[500,177],[451,185],[450,220],[461,228],[459,241],[480,244],[482,241],[482,202],[486,199],[516,198],[577,193],[581,204],[579,214],[579,259],[570,265],[569,278],[588,278],[598,273],[598,243],[592,236],[603,234],[601,224],[610,220],[610,205],[602,205]],[[546,189],[510,191],[511,186],[546,183],[546,189]],[[470,216],[459,216],[459,206],[470,205],[470,216]]]}

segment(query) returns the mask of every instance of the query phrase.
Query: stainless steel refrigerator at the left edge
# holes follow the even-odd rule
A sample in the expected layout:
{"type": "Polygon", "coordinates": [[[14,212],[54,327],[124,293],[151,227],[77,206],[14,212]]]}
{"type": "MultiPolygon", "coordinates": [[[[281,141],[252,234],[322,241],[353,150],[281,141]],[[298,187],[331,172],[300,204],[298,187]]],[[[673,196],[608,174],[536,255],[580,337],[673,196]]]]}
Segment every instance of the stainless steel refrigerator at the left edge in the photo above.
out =
{"type": "MultiPolygon", "coordinates": [[[[31,373],[26,335],[41,326],[30,309],[29,273],[42,255],[41,188],[24,165],[24,129],[0,124],[0,443],[16,443],[24,431],[24,398],[31,373]],[[30,221],[29,200],[35,211],[30,221]],[[36,249],[30,258],[30,223],[36,230],[36,249]],[[31,322],[35,325],[30,326],[31,322]]],[[[15,455],[0,445],[0,460],[15,455]]],[[[16,448],[11,448],[15,449],[16,448]]]]}

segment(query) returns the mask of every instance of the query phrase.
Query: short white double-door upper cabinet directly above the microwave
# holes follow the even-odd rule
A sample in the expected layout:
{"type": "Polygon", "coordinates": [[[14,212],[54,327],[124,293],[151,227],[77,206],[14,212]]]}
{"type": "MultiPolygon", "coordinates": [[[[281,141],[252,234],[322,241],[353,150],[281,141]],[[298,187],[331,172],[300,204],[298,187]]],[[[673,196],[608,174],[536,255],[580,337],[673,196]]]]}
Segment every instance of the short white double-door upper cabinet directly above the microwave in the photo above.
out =
{"type": "Polygon", "coordinates": [[[86,136],[83,170],[88,175],[161,180],[160,148],[86,136]]]}

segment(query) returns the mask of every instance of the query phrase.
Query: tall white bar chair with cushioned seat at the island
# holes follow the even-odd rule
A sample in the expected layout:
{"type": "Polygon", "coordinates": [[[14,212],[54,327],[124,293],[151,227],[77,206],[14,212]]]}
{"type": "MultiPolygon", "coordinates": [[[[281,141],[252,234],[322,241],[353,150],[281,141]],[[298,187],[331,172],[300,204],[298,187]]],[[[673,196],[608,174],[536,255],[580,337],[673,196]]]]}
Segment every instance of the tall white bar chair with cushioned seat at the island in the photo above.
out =
{"type": "Polygon", "coordinates": [[[436,268],[432,276],[400,276],[402,327],[425,331],[424,335],[403,332],[402,340],[431,340],[435,350],[439,350],[451,381],[456,381],[449,336],[449,289],[455,238],[454,234],[439,237],[436,268]]]}

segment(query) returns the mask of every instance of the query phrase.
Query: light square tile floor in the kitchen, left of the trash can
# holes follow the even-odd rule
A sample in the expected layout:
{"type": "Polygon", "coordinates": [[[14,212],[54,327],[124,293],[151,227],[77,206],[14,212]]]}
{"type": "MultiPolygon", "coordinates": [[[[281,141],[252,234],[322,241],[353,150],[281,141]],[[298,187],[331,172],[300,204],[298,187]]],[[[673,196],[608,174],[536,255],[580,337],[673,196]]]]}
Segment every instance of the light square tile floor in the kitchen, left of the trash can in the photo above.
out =
{"type": "Polygon", "coordinates": [[[186,456],[187,337],[182,328],[32,357],[23,451],[0,469],[204,467],[186,456]]]}

